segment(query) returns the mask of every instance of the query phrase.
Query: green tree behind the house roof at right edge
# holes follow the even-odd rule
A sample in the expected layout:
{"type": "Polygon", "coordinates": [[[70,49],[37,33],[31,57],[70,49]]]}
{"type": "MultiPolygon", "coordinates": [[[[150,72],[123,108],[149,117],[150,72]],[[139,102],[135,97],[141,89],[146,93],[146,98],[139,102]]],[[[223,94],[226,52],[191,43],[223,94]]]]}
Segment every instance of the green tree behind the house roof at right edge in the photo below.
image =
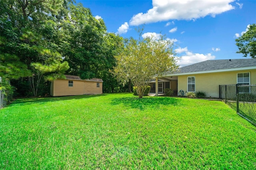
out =
{"type": "Polygon", "coordinates": [[[236,45],[238,46],[238,51],[236,53],[244,54],[247,57],[256,57],[256,24],[248,25],[247,31],[242,34],[241,37],[236,39],[236,45]]]}

